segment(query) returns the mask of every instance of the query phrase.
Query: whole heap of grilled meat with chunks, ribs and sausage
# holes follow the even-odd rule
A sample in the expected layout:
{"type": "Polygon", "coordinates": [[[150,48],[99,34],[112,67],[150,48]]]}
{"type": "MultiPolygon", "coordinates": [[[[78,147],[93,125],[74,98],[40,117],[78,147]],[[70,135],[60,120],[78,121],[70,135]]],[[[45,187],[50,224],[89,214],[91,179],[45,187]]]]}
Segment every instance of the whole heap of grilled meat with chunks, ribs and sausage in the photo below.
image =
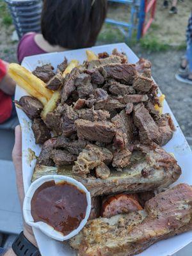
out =
{"type": "Polygon", "coordinates": [[[181,184],[154,193],[179,179],[181,170],[161,148],[175,127],[169,114],[158,111],[150,61],[130,64],[114,49],[63,78],[65,68],[66,59],[56,74],[51,65],[33,72],[47,88],[60,90],[57,107],[45,120],[37,99],[24,96],[18,104],[33,122],[36,143],[43,144],[33,180],[68,175],[92,195],[91,220],[71,246],[79,255],[134,255],[191,228],[191,206],[184,204],[192,199],[191,187],[181,184]]]}

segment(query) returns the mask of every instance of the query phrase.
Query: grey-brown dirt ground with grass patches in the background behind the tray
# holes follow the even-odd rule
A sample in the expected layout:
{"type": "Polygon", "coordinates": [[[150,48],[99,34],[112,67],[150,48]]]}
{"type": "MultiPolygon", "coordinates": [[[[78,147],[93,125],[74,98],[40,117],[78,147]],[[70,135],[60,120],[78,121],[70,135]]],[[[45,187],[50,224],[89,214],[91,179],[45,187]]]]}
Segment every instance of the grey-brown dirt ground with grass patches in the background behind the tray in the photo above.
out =
{"type": "MultiPolygon", "coordinates": [[[[156,20],[147,36],[149,38],[150,36],[157,36],[159,40],[166,42],[166,44],[175,45],[177,43],[177,45],[183,45],[189,6],[192,5],[192,0],[184,0],[183,3],[179,3],[179,13],[177,15],[168,14],[168,10],[162,8],[162,2],[163,0],[157,1],[156,20]]],[[[0,11],[1,3],[2,0],[0,0],[0,11]]],[[[125,19],[127,13],[128,10],[125,7],[118,6],[118,4],[109,6],[108,15],[115,17],[115,19],[125,19]]],[[[13,25],[3,26],[2,15],[0,15],[0,25],[0,56],[9,62],[17,61],[17,42],[12,42],[11,39],[13,25]]],[[[109,27],[105,24],[100,35],[99,44],[125,42],[124,36],[114,26],[109,27]]],[[[152,75],[159,84],[161,91],[166,95],[166,100],[184,135],[192,145],[192,86],[182,84],[175,79],[175,73],[178,70],[180,57],[184,54],[184,50],[177,51],[170,47],[167,51],[150,52],[143,49],[140,43],[133,44],[131,47],[138,56],[148,58],[152,62],[152,75]]]]}

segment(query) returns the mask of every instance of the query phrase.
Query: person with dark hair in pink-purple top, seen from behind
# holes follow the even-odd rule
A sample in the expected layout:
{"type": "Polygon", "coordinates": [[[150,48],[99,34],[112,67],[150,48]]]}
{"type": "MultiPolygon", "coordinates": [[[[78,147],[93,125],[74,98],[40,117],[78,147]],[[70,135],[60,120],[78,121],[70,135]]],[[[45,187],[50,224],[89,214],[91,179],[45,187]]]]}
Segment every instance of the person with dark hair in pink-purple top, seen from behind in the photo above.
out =
{"type": "Polygon", "coordinates": [[[19,63],[24,57],[46,52],[92,47],[107,12],[107,0],[44,0],[42,34],[22,36],[19,63]]]}

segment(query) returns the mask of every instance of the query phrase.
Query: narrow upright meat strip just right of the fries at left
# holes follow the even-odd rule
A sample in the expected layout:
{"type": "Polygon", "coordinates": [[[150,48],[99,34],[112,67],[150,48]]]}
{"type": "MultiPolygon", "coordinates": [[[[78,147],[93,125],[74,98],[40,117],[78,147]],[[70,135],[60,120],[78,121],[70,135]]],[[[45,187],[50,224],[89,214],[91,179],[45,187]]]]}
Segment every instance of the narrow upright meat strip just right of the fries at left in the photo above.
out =
{"type": "Polygon", "coordinates": [[[70,74],[65,77],[65,83],[61,90],[61,103],[65,102],[71,93],[76,90],[75,80],[79,76],[78,68],[74,68],[70,74]]]}

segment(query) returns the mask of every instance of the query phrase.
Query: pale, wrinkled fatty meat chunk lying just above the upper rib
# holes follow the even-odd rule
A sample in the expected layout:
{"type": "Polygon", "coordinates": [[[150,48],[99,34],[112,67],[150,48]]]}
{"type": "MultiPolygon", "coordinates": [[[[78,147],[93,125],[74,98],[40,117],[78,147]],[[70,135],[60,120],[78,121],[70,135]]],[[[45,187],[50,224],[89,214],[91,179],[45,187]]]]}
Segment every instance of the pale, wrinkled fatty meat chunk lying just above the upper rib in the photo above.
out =
{"type": "Polygon", "coordinates": [[[76,164],[72,168],[73,175],[86,177],[90,170],[102,163],[109,164],[113,154],[107,148],[88,144],[77,157],[76,164]]]}

